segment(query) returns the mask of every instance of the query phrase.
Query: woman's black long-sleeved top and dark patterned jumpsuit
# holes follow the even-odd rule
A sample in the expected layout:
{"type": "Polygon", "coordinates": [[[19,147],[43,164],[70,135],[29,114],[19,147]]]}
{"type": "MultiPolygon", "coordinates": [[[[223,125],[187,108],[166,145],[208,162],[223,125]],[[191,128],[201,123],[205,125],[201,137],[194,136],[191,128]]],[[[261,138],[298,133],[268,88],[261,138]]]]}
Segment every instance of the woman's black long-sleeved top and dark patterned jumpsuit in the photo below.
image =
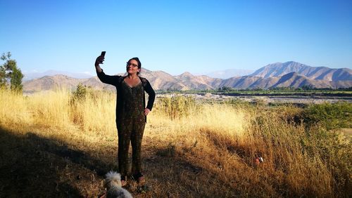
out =
{"type": "Polygon", "coordinates": [[[141,82],[130,87],[124,81],[125,77],[109,76],[104,72],[97,72],[99,79],[106,84],[116,87],[116,126],[118,128],[118,169],[120,174],[127,176],[128,149],[132,143],[132,173],[138,175],[142,172],[141,147],[146,116],[145,93],[149,94],[146,108],[151,110],[155,100],[155,92],[149,81],[139,77],[141,82]]]}

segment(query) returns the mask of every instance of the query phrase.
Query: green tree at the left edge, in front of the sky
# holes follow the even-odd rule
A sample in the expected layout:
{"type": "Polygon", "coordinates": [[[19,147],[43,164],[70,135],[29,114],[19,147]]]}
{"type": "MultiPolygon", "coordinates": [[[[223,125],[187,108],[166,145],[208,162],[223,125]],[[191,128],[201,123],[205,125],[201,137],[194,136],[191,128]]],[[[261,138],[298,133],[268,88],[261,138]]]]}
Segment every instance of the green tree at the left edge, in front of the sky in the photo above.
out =
{"type": "Polygon", "coordinates": [[[23,74],[20,68],[17,67],[17,62],[10,59],[11,53],[3,53],[1,60],[6,61],[0,66],[0,87],[11,88],[12,91],[22,92],[23,74]]]}

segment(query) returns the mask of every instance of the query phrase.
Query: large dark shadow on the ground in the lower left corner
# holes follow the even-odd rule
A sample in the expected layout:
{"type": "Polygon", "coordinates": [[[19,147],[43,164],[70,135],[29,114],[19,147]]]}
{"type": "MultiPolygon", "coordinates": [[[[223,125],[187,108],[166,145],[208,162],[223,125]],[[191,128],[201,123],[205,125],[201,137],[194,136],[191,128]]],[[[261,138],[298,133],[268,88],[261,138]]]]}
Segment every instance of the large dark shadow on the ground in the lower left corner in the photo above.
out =
{"type": "Polygon", "coordinates": [[[101,161],[103,152],[95,154],[98,159],[58,140],[17,134],[0,126],[0,197],[82,197],[73,180],[84,183],[88,174],[94,178],[115,168],[101,161]],[[68,164],[77,170],[68,173],[68,164]]]}

